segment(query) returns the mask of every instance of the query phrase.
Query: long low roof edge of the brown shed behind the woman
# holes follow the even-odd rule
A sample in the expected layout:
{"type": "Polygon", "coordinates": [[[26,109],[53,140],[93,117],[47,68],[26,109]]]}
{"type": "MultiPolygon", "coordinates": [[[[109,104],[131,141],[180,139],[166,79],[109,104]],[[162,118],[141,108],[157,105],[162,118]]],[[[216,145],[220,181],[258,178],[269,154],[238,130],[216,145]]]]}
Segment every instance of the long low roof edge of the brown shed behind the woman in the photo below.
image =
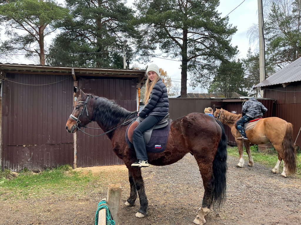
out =
{"type": "MultiPolygon", "coordinates": [[[[102,76],[145,76],[145,70],[128,70],[128,69],[113,69],[113,68],[89,68],[89,67],[67,67],[67,66],[48,66],[48,65],[33,65],[33,64],[9,64],[0,63],[0,69],[6,71],[33,71],[33,72],[48,72],[48,73],[72,73],[74,70],[75,74],[80,74],[82,76],[97,76],[102,74],[102,76]]],[[[146,76],[145,76],[146,77],[146,76]]]]}

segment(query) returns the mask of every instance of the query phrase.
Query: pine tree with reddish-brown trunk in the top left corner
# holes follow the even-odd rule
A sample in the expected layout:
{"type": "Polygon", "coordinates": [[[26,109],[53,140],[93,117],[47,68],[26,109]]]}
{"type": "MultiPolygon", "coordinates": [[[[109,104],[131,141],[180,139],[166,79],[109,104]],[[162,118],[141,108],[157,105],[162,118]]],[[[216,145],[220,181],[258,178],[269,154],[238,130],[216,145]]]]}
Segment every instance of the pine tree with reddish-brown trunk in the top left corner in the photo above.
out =
{"type": "Polygon", "coordinates": [[[38,54],[40,64],[45,65],[45,37],[55,31],[54,23],[67,17],[68,10],[52,0],[2,1],[0,22],[10,39],[2,43],[1,52],[38,54]]]}

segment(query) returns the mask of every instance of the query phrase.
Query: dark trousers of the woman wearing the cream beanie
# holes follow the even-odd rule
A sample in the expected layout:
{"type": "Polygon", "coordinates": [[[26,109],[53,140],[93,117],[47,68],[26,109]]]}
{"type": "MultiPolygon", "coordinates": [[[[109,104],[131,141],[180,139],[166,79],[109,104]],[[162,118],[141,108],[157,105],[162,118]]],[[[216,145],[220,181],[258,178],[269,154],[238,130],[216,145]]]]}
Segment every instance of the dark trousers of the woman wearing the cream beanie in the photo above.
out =
{"type": "Polygon", "coordinates": [[[147,160],[144,131],[153,127],[157,122],[162,120],[164,116],[147,116],[133,132],[133,145],[135,148],[137,159],[147,160]]]}

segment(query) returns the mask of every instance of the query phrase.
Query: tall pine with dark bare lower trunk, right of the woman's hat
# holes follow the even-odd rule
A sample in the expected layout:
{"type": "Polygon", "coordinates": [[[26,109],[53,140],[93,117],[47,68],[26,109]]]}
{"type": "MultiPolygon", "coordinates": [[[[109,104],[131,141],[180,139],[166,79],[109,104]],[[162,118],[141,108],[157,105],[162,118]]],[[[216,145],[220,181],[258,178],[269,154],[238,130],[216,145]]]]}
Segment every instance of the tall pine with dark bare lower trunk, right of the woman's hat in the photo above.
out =
{"type": "Polygon", "coordinates": [[[187,72],[195,83],[206,85],[216,62],[237,53],[231,35],[236,27],[220,18],[218,0],[140,0],[137,4],[141,40],[137,49],[148,55],[157,46],[167,56],[181,59],[181,97],[187,96],[187,72]]]}

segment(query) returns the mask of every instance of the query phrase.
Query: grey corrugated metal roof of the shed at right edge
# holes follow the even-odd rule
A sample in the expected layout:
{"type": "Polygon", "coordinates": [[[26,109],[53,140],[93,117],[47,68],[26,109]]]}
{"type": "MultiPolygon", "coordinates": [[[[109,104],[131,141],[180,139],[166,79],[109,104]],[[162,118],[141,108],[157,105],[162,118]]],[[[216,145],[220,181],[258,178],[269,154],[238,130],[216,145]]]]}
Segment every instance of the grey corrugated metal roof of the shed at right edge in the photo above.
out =
{"type": "Polygon", "coordinates": [[[253,88],[284,84],[301,80],[301,57],[269,76],[253,88]]]}

